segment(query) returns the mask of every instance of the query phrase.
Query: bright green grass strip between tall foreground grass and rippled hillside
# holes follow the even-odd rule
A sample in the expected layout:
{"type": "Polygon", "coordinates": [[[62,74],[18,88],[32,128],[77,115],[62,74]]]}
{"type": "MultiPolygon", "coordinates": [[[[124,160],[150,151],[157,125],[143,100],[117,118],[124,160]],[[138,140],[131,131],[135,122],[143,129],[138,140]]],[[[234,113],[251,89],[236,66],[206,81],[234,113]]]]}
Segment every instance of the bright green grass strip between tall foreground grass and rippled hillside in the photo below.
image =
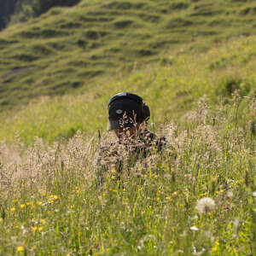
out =
{"type": "Polygon", "coordinates": [[[189,53],[188,46],[166,55],[161,65],[133,71],[126,79],[106,80],[79,96],[40,97],[19,112],[1,114],[0,138],[13,141],[19,135],[25,143],[35,137],[53,142],[72,137],[78,130],[105,131],[109,97],[127,90],[143,96],[152,112],[149,123],[156,127],[171,119],[183,123],[184,114],[196,108],[204,95],[217,108],[220,102],[230,102],[237,90],[239,123],[253,126],[255,115],[248,105],[256,94],[255,45],[255,37],[234,38],[201,54],[189,53]]]}

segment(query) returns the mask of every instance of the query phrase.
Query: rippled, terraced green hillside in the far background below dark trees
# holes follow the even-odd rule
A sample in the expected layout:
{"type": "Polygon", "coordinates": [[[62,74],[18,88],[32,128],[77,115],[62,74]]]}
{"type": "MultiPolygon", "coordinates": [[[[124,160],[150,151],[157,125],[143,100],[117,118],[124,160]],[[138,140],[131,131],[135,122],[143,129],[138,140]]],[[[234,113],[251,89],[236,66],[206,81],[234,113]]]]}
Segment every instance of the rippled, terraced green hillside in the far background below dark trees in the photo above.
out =
{"type": "MultiPolygon", "coordinates": [[[[89,91],[181,45],[208,49],[255,32],[256,1],[84,0],[0,33],[0,106],[89,91]]],[[[223,64],[218,64],[223,65],[223,64]]],[[[99,87],[100,88],[100,87],[99,87]]]]}

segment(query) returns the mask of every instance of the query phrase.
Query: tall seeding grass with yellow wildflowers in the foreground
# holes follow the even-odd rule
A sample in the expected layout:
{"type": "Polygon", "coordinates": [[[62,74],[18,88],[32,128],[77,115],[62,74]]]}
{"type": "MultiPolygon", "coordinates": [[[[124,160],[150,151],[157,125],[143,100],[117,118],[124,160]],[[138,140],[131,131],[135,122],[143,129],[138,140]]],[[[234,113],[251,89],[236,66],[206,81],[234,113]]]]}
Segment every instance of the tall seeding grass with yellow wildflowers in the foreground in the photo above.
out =
{"type": "Polygon", "coordinates": [[[1,254],[253,255],[256,106],[247,99],[242,128],[239,102],[214,110],[202,98],[183,122],[159,127],[166,148],[118,181],[109,166],[102,186],[95,160],[109,134],[1,143],[1,254]]]}

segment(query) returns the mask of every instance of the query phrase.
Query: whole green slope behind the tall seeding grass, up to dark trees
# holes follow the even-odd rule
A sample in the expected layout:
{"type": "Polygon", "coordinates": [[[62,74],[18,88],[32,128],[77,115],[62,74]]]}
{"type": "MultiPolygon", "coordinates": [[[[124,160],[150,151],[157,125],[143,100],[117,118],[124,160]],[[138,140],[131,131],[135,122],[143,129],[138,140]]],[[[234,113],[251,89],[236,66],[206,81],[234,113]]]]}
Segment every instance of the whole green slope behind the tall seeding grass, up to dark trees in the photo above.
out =
{"type": "Polygon", "coordinates": [[[108,98],[122,90],[145,98],[156,126],[235,90],[244,115],[255,96],[255,14],[256,1],[84,0],[10,26],[0,33],[0,137],[103,131],[108,98]]]}

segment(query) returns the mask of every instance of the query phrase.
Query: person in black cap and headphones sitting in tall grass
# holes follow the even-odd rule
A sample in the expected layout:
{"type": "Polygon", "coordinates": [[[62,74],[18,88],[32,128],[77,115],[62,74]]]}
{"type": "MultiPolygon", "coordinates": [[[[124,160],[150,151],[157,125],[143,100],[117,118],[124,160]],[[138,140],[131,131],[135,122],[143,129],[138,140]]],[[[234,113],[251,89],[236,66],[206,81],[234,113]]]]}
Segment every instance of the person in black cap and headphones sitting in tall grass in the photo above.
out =
{"type": "Polygon", "coordinates": [[[157,137],[148,131],[149,118],[148,106],[136,94],[122,92],[109,100],[108,131],[114,132],[117,141],[100,149],[96,160],[100,183],[104,174],[119,177],[124,166],[127,171],[137,160],[159,152],[166,145],[165,137],[157,137]]]}

